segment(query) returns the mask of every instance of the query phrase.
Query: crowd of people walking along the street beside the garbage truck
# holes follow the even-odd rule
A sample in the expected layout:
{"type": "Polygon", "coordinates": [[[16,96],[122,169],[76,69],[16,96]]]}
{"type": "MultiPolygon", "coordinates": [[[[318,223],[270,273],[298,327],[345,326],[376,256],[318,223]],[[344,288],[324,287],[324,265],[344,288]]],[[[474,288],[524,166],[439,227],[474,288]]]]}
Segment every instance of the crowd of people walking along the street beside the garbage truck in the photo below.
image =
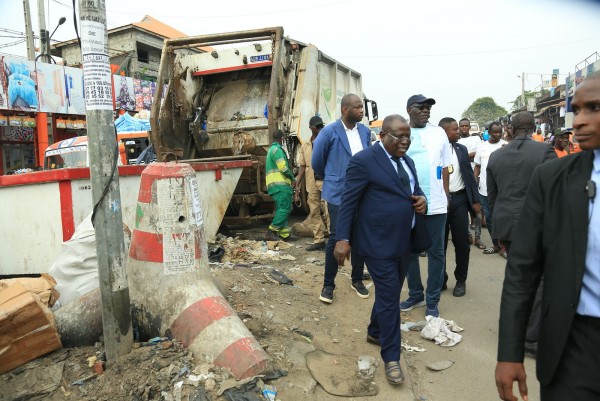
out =
{"type": "Polygon", "coordinates": [[[309,250],[325,251],[319,299],[333,302],[338,268],[348,259],[352,289],[369,298],[366,265],[376,290],[366,341],[381,347],[392,385],[404,379],[400,311],[425,307],[426,316],[440,316],[450,235],[455,297],[467,291],[471,245],[498,253],[507,259],[496,370],[501,399],[516,400],[513,381],[526,397],[526,351],[537,355],[543,400],[600,399],[600,382],[593,380],[600,367],[600,211],[593,207],[600,180],[600,74],[575,93],[574,129],[550,138],[536,134],[527,111],[488,124],[485,137],[471,135],[466,118],[445,117],[435,125],[429,121],[435,104],[411,96],[409,118],[385,117],[371,145],[361,98],[345,95],[339,120],[310,119],[313,135],[302,146],[296,177],[277,131],[267,156],[276,205],[269,236],[289,237],[292,191],[306,180],[314,233],[309,250]],[[408,297],[400,300],[405,278],[408,297]]]}

